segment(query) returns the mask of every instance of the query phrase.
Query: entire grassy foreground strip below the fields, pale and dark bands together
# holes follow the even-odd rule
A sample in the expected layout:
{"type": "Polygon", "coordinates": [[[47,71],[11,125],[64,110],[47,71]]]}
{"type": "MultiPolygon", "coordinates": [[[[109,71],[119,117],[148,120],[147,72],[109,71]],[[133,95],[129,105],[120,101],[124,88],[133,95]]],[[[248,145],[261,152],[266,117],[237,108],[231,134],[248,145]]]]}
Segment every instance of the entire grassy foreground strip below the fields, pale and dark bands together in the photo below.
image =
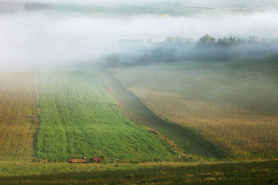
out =
{"type": "MultiPolygon", "coordinates": [[[[0,164],[13,171],[15,164],[0,164]]],[[[32,174],[0,177],[0,184],[277,184],[278,161],[220,164],[19,164],[32,174]],[[63,172],[63,173],[60,173],[63,172]]]]}

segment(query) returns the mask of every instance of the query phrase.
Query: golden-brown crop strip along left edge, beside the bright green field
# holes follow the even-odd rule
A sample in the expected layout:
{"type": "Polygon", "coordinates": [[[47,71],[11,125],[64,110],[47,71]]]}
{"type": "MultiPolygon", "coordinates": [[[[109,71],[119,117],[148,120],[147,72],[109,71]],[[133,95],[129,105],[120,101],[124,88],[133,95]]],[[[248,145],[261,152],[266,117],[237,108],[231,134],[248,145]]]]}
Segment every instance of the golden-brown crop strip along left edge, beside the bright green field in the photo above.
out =
{"type": "Polygon", "coordinates": [[[36,73],[0,73],[0,159],[31,159],[38,112],[36,73]]]}

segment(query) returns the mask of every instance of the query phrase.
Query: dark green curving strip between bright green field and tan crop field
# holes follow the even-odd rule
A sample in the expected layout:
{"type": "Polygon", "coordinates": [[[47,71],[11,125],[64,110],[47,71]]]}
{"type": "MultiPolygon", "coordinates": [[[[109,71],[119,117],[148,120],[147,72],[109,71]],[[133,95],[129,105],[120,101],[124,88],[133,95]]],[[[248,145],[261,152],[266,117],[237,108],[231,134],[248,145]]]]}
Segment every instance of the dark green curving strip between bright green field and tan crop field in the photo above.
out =
{"type": "Polygon", "coordinates": [[[115,102],[131,121],[138,125],[147,126],[158,132],[165,138],[170,139],[177,148],[181,148],[186,155],[203,157],[224,157],[212,143],[206,141],[192,130],[177,123],[163,120],[152,112],[138,96],[126,89],[112,73],[104,73],[104,86],[108,94],[115,98],[115,102]]]}

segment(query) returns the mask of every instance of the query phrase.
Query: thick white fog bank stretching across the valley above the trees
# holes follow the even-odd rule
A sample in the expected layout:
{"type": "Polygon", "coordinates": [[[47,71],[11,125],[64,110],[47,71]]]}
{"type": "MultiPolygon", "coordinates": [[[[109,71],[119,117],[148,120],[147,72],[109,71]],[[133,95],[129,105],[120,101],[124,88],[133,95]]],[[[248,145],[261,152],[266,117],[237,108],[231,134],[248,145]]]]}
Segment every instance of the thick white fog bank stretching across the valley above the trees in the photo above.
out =
{"type": "Polygon", "coordinates": [[[227,12],[192,16],[165,15],[93,16],[58,11],[0,13],[1,70],[66,67],[93,62],[101,56],[134,51],[121,47],[120,39],[160,42],[169,36],[197,41],[209,34],[215,38],[236,36],[275,39],[278,12],[227,12]]]}

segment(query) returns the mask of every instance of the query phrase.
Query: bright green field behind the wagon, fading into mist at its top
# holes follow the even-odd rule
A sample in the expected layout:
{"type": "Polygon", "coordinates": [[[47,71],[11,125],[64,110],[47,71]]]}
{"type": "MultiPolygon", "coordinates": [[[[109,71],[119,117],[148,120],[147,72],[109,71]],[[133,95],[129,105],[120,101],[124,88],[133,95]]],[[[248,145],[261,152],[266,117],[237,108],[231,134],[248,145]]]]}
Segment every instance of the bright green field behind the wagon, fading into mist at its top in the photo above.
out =
{"type": "Polygon", "coordinates": [[[173,160],[166,141],[131,121],[106,94],[100,73],[40,73],[40,127],[35,157],[173,160]]]}

